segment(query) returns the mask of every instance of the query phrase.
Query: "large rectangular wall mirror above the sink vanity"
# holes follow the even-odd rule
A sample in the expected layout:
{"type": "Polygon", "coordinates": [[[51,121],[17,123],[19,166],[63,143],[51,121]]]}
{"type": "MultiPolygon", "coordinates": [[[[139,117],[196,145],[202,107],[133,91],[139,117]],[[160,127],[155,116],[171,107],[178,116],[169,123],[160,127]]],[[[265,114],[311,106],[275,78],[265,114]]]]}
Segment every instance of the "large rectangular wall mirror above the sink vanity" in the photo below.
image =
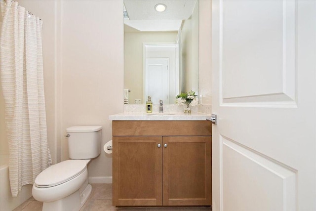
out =
{"type": "Polygon", "coordinates": [[[198,95],[198,44],[198,0],[124,0],[124,103],[198,95]]]}

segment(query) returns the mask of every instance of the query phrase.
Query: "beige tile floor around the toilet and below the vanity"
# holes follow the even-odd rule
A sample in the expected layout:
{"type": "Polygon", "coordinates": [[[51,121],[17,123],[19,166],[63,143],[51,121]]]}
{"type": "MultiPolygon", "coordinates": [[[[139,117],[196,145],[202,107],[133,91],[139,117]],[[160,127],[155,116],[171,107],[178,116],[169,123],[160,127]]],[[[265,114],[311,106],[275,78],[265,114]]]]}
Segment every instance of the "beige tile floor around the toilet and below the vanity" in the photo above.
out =
{"type": "MultiPolygon", "coordinates": [[[[33,197],[14,211],[41,211],[43,204],[33,197]]],[[[211,211],[210,207],[116,208],[112,206],[112,184],[92,184],[92,193],[80,211],[211,211]]]]}

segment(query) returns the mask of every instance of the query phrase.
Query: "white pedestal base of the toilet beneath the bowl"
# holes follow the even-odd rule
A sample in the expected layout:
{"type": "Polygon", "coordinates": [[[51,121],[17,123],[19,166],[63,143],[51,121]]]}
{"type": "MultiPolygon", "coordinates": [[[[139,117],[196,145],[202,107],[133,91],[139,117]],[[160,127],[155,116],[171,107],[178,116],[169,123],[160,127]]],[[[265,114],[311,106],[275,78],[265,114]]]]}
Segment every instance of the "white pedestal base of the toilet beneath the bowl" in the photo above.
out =
{"type": "Polygon", "coordinates": [[[83,187],[63,199],[53,202],[44,202],[42,211],[79,211],[92,191],[92,186],[90,184],[86,183],[84,189],[83,187]]]}

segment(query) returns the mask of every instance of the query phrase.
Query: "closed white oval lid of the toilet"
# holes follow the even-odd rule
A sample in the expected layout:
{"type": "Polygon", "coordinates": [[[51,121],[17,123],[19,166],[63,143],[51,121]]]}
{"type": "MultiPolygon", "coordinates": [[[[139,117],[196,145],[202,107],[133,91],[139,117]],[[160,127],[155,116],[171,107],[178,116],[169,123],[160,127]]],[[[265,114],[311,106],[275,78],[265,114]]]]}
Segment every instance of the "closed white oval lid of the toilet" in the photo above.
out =
{"type": "Polygon", "coordinates": [[[35,186],[52,187],[67,182],[86,169],[85,160],[67,160],[43,170],[35,179],[35,186]]]}

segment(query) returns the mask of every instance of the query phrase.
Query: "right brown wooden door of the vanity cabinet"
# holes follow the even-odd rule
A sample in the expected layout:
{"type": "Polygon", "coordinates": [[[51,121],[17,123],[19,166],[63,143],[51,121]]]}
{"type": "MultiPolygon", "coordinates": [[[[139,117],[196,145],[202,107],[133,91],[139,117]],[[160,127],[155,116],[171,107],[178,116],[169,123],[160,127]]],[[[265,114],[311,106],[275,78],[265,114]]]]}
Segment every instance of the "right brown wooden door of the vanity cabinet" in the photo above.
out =
{"type": "Polygon", "coordinates": [[[162,142],[163,206],[211,205],[211,136],[164,136],[162,142]]]}

